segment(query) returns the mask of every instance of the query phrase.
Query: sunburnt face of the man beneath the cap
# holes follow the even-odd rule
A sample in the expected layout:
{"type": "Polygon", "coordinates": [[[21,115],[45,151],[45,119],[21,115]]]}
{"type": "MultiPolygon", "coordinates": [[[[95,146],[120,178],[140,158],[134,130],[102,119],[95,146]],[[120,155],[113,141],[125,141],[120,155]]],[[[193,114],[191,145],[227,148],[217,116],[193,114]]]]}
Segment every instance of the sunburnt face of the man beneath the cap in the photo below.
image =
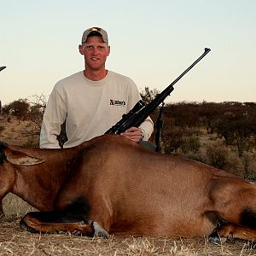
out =
{"type": "Polygon", "coordinates": [[[108,44],[102,37],[89,37],[83,45],[79,45],[79,52],[84,55],[85,67],[100,70],[105,68],[105,62],[110,52],[108,44]]]}

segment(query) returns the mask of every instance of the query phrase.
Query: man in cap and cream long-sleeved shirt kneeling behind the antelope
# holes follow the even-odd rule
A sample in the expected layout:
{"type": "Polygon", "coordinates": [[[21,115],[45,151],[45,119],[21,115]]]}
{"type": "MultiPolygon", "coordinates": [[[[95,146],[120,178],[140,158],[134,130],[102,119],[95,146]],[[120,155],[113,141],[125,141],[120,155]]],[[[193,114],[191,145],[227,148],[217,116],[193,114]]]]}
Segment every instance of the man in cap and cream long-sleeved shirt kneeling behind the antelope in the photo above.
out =
{"type": "MultiPolygon", "coordinates": [[[[110,53],[106,31],[99,27],[85,30],[79,53],[84,55],[84,71],[61,79],[49,96],[40,134],[41,148],[60,148],[57,136],[65,120],[64,148],[102,135],[140,99],[137,85],[130,78],[105,68],[110,53]]],[[[148,117],[142,125],[131,127],[121,136],[134,142],[147,141],[153,129],[148,117]]]]}

